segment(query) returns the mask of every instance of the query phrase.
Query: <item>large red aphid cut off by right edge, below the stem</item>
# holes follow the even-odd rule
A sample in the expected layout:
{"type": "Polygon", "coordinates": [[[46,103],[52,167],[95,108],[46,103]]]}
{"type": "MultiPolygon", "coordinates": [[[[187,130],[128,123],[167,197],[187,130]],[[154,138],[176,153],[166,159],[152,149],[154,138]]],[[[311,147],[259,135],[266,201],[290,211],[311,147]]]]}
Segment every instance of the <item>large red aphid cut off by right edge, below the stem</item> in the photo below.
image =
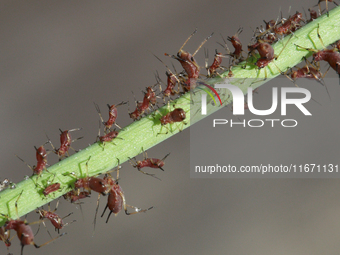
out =
{"type": "Polygon", "coordinates": [[[330,65],[330,67],[335,70],[335,72],[339,75],[340,78],[340,53],[338,52],[337,48],[333,49],[327,49],[321,39],[320,33],[319,33],[319,26],[317,28],[317,35],[320,39],[320,42],[323,46],[323,50],[316,50],[316,49],[311,49],[311,48],[304,48],[299,45],[296,45],[299,48],[308,50],[308,51],[313,51],[313,60],[316,62],[319,61],[326,61],[330,65]]]}

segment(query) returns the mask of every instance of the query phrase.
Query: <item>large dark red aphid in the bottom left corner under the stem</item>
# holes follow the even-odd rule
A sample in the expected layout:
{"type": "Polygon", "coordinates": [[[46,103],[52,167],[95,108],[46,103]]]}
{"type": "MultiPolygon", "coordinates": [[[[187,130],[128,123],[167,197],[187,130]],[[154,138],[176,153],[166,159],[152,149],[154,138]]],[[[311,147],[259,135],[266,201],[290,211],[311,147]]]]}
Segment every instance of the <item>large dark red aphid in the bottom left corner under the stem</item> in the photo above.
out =
{"type": "MultiPolygon", "coordinates": [[[[18,201],[19,201],[19,198],[21,197],[22,193],[23,193],[23,191],[19,194],[17,200],[15,201],[15,210],[16,210],[17,215],[18,215],[18,201]]],[[[35,248],[40,248],[40,247],[43,247],[43,246],[49,244],[50,242],[53,242],[54,240],[56,240],[59,237],[66,234],[66,233],[62,233],[61,235],[59,235],[59,236],[41,244],[41,245],[37,245],[34,242],[34,234],[33,234],[33,231],[32,231],[32,228],[30,227],[30,225],[36,224],[38,222],[33,222],[33,223],[28,224],[26,222],[26,220],[22,221],[22,220],[20,220],[19,217],[16,220],[14,220],[14,219],[9,218],[5,214],[1,213],[1,215],[3,217],[7,218],[7,221],[5,223],[5,229],[6,230],[13,229],[15,232],[17,232],[17,236],[18,236],[20,243],[21,243],[21,255],[23,254],[23,250],[24,250],[25,245],[34,245],[35,248]]]]}

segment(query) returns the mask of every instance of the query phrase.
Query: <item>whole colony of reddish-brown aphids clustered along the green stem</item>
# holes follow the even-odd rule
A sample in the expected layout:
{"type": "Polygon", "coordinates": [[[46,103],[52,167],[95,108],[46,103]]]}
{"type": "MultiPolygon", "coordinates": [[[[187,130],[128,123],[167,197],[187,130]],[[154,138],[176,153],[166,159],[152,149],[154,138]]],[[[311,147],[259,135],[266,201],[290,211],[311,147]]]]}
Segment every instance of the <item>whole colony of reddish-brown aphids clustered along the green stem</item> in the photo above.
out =
{"type": "MultiPolygon", "coordinates": [[[[186,52],[183,50],[186,43],[189,41],[189,39],[197,32],[195,30],[184,42],[184,44],[180,47],[179,51],[176,55],[170,55],[165,53],[166,56],[170,56],[172,59],[175,59],[179,62],[181,67],[183,68],[183,71],[180,73],[177,73],[177,71],[174,69],[172,71],[160,58],[156,56],[156,58],[161,61],[164,66],[166,67],[166,83],[161,80],[158,73],[156,75],[156,84],[153,86],[149,86],[146,88],[146,92],[144,92],[144,97],[141,101],[136,101],[136,108],[134,111],[129,111],[129,116],[133,121],[140,120],[144,115],[150,113],[152,110],[155,110],[152,117],[157,119],[159,121],[159,125],[163,128],[167,129],[167,132],[172,132],[173,128],[172,125],[176,125],[176,129],[181,131],[183,125],[185,125],[185,119],[186,119],[186,112],[182,108],[178,108],[174,106],[174,109],[170,109],[170,101],[171,97],[175,97],[177,95],[180,95],[182,93],[186,93],[188,91],[193,90],[196,86],[202,84],[205,79],[212,78],[216,76],[222,77],[222,72],[228,70],[228,72],[224,73],[223,76],[225,77],[233,77],[232,73],[232,67],[236,65],[240,65],[243,68],[246,68],[247,66],[253,66],[257,68],[259,71],[262,68],[266,68],[269,63],[275,61],[281,54],[275,53],[273,47],[271,46],[273,43],[281,40],[284,36],[294,36],[294,32],[302,27],[304,24],[312,22],[315,20],[318,16],[322,14],[322,12],[326,13],[326,15],[329,15],[328,12],[328,2],[333,2],[330,0],[326,0],[326,10],[321,10],[321,2],[323,0],[320,0],[317,4],[318,10],[313,10],[312,8],[308,9],[309,11],[309,17],[305,15],[305,18],[303,18],[302,13],[296,12],[295,14],[289,16],[287,19],[282,18],[277,20],[270,20],[270,21],[264,21],[265,25],[260,26],[256,28],[254,31],[252,42],[248,45],[248,54],[245,56],[241,40],[239,39],[239,35],[243,31],[242,28],[239,28],[237,32],[232,35],[231,37],[227,37],[227,41],[231,43],[234,50],[231,51],[227,45],[226,40],[223,38],[223,44],[220,44],[224,50],[226,51],[225,54],[220,53],[220,51],[216,50],[214,59],[212,61],[212,64],[208,64],[208,51],[205,50],[205,69],[206,74],[203,74],[201,72],[201,66],[197,63],[195,60],[195,55],[197,52],[202,48],[202,46],[207,42],[207,40],[212,36],[208,36],[203,40],[203,42],[198,46],[196,51],[191,54],[189,52],[186,52]],[[222,66],[222,61],[224,58],[229,58],[229,67],[222,66]],[[165,89],[162,90],[162,84],[165,85],[165,89]],[[157,93],[157,88],[160,88],[160,92],[157,93]],[[177,87],[177,89],[176,89],[177,87]],[[182,92],[181,92],[182,89],[182,92]],[[162,114],[158,108],[158,98],[162,98],[163,102],[165,103],[165,99],[170,99],[168,102],[168,110],[166,113],[162,114]],[[177,125],[181,124],[181,125],[177,125]]],[[[336,4],[335,2],[333,2],[336,4]]],[[[337,4],[336,4],[337,5],[337,4]]],[[[327,49],[322,41],[322,38],[319,33],[319,27],[317,29],[317,35],[320,39],[321,44],[323,45],[322,50],[316,50],[312,48],[305,48],[303,45],[296,45],[297,48],[300,50],[306,50],[313,52],[313,59],[312,61],[308,61],[305,59],[305,66],[298,68],[297,70],[293,71],[292,69],[290,72],[281,73],[285,76],[287,76],[294,84],[298,78],[308,78],[313,79],[319,82],[322,85],[325,85],[323,82],[323,77],[325,74],[322,74],[320,71],[320,61],[325,61],[329,64],[329,66],[336,71],[336,73],[340,77],[340,41],[338,41],[332,49],[327,49]]],[[[266,70],[266,69],[264,69],[266,70]]],[[[295,84],[296,85],[296,84],[295,84]]],[[[100,108],[97,104],[95,105],[95,109],[99,114],[100,122],[99,122],[99,132],[97,135],[96,142],[99,143],[103,150],[105,150],[105,144],[106,143],[112,143],[115,139],[119,139],[119,130],[112,129],[113,126],[115,126],[118,129],[121,129],[121,127],[116,123],[116,119],[118,117],[118,107],[119,109],[125,105],[128,104],[128,102],[120,102],[116,105],[110,105],[107,104],[108,107],[108,114],[109,117],[107,121],[104,121],[104,118],[102,116],[102,113],[100,111],[100,108]],[[104,126],[104,134],[100,135],[100,126],[104,126]]],[[[65,184],[62,184],[58,182],[58,178],[56,178],[55,173],[50,173],[47,170],[48,161],[47,156],[51,152],[56,154],[58,156],[59,161],[63,158],[67,158],[69,156],[69,151],[72,149],[71,144],[79,140],[83,137],[76,138],[72,140],[70,132],[73,131],[79,131],[81,128],[74,128],[71,130],[60,130],[60,147],[56,148],[51,140],[47,137],[47,141],[41,145],[39,148],[35,148],[36,151],[36,165],[30,166],[27,164],[23,159],[18,157],[21,161],[23,161],[33,172],[33,175],[31,177],[32,181],[34,182],[36,186],[37,192],[42,196],[42,198],[47,196],[53,196],[57,192],[62,192],[63,189],[68,186],[65,184]],[[45,146],[49,144],[51,146],[51,150],[45,149],[45,146]],[[42,174],[49,175],[48,182],[46,183],[39,183],[39,177],[42,174]]],[[[161,135],[164,133],[158,133],[157,135],[161,135]]],[[[130,164],[137,168],[137,170],[143,174],[152,176],[154,178],[159,179],[155,176],[155,174],[150,174],[146,171],[143,171],[142,169],[149,167],[149,168],[158,168],[163,170],[164,166],[164,160],[169,156],[169,154],[165,155],[162,159],[157,158],[149,158],[147,156],[147,152],[141,148],[141,152],[143,152],[144,158],[143,160],[136,160],[136,158],[130,158],[130,164]]],[[[75,173],[68,173],[67,176],[72,180],[72,190],[67,192],[63,195],[64,199],[71,203],[79,203],[79,200],[83,200],[91,195],[91,192],[98,193],[98,201],[97,201],[97,208],[96,208],[96,214],[99,207],[99,199],[100,196],[106,196],[107,197],[107,203],[105,206],[105,209],[101,215],[101,217],[104,216],[107,209],[109,209],[109,214],[107,216],[106,222],[108,222],[111,214],[118,214],[121,210],[125,211],[125,214],[132,215],[137,214],[141,212],[146,212],[153,207],[149,207],[147,209],[140,209],[135,206],[130,206],[126,203],[126,199],[123,193],[123,190],[121,186],[119,185],[119,159],[117,159],[118,167],[115,170],[112,170],[111,172],[115,171],[116,173],[116,179],[114,179],[110,173],[106,173],[103,178],[100,178],[99,176],[89,176],[88,175],[88,168],[91,164],[91,156],[88,158],[85,164],[86,169],[86,175],[85,176],[77,176],[75,173]],[[128,208],[132,208],[133,211],[129,211],[128,208]]],[[[0,191],[2,189],[5,189],[7,186],[13,186],[9,185],[10,181],[8,179],[5,179],[2,183],[0,182],[0,191]]],[[[13,186],[14,187],[14,186],[13,186]]],[[[23,253],[23,248],[26,245],[34,245],[36,248],[40,248],[57,238],[65,235],[66,233],[59,234],[59,231],[63,229],[65,226],[69,225],[70,223],[64,223],[63,219],[68,217],[69,215],[61,218],[56,213],[57,206],[55,210],[50,210],[50,204],[48,205],[48,210],[44,210],[43,208],[37,208],[37,213],[39,214],[39,220],[37,222],[28,223],[26,220],[21,220],[18,216],[18,207],[20,206],[20,197],[22,194],[24,194],[25,190],[22,190],[20,194],[18,195],[17,199],[15,200],[15,211],[17,213],[17,218],[13,219],[10,218],[7,214],[4,212],[0,212],[0,217],[6,219],[6,223],[4,226],[0,228],[0,240],[4,242],[7,249],[11,245],[11,234],[10,230],[15,231],[17,233],[17,236],[21,243],[21,254],[23,253]],[[30,227],[30,225],[38,223],[40,226],[40,223],[43,223],[45,225],[45,221],[48,220],[51,222],[53,227],[58,231],[58,236],[52,237],[47,242],[45,242],[42,245],[37,245],[34,242],[34,235],[33,231],[30,227]]],[[[96,222],[96,216],[95,221],[96,222]]]]}

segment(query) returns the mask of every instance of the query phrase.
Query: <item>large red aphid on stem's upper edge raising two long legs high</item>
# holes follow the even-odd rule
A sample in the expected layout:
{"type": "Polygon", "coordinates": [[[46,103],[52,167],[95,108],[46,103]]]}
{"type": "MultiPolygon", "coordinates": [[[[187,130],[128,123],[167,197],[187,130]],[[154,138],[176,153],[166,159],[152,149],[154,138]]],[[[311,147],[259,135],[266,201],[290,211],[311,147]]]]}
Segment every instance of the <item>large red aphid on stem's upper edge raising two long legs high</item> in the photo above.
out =
{"type": "Polygon", "coordinates": [[[187,51],[182,50],[185,44],[189,41],[189,39],[197,32],[197,29],[188,37],[188,39],[184,42],[182,47],[179,49],[177,56],[169,55],[165,53],[166,56],[170,56],[174,59],[177,59],[180,64],[182,65],[184,71],[187,73],[188,78],[185,81],[183,85],[184,91],[190,91],[191,89],[194,89],[196,87],[196,81],[200,75],[200,66],[197,64],[196,60],[194,59],[194,56],[199,51],[199,49],[208,41],[208,39],[213,35],[211,34],[207,38],[203,40],[201,45],[197,48],[197,50],[194,52],[194,54],[190,54],[187,51]]]}

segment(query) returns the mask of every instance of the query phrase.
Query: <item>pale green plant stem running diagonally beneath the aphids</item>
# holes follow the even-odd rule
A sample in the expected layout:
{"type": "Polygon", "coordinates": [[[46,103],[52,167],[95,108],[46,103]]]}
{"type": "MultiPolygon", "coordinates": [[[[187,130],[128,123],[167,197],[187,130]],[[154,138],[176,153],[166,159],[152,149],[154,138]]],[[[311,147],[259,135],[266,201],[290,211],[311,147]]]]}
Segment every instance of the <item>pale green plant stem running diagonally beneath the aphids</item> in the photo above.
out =
{"type": "MultiPolygon", "coordinates": [[[[284,46],[285,49],[280,54],[279,58],[273,61],[274,63],[269,64],[267,68],[258,70],[254,65],[248,64],[246,69],[243,69],[242,66],[244,66],[244,63],[241,63],[240,65],[232,68],[234,75],[232,79],[212,79],[207,82],[210,84],[221,82],[233,83],[234,85],[237,84],[244,93],[247,92],[247,88],[249,86],[253,89],[259,87],[270,78],[278,76],[280,74],[280,70],[284,72],[288,68],[300,63],[304,56],[310,56],[312,54],[311,52],[299,48],[296,45],[312,49],[323,48],[316,33],[318,26],[320,27],[319,31],[324,45],[329,45],[336,40],[339,40],[340,7],[330,11],[329,18],[326,15],[323,15],[296,31],[294,36],[286,36],[284,40],[273,45],[276,54],[279,54],[284,46]],[[288,40],[289,43],[287,44],[288,40]],[[265,73],[267,74],[266,80],[264,80],[265,73]],[[249,78],[257,78],[259,81],[254,83],[254,79],[249,78]]],[[[227,75],[227,73],[224,73],[223,75],[227,75]]],[[[105,173],[117,166],[117,158],[119,158],[120,163],[124,163],[129,158],[140,154],[142,152],[142,148],[147,150],[175,135],[182,129],[188,128],[191,124],[194,124],[205,117],[199,114],[200,105],[192,103],[196,101],[195,98],[200,98],[202,93],[201,91],[202,90],[195,89],[193,95],[186,93],[171,103],[171,109],[173,109],[174,105],[184,109],[187,115],[186,125],[172,124],[171,126],[167,125],[162,127],[160,125],[159,118],[161,117],[161,114],[166,114],[169,111],[168,106],[164,106],[158,109],[158,111],[123,128],[119,132],[118,136],[121,139],[116,138],[114,143],[95,143],[49,167],[49,172],[44,172],[38,180],[35,175],[16,184],[15,189],[7,189],[0,192],[0,213],[16,219],[17,217],[21,217],[22,215],[35,210],[37,207],[57,199],[61,195],[70,191],[75,178],[67,175],[67,173],[73,172],[78,177],[85,177],[87,174],[85,165],[89,157],[91,157],[91,159],[88,165],[88,175],[94,176],[105,173]],[[61,189],[47,197],[44,197],[42,191],[44,187],[47,186],[48,181],[59,182],[61,184],[61,189]],[[38,183],[38,186],[36,186],[36,182],[38,183]],[[15,202],[22,191],[22,196],[18,201],[17,214],[15,202]]],[[[224,104],[230,103],[232,99],[229,94],[220,96],[224,104]]],[[[220,107],[208,104],[208,114],[206,116],[218,109],[220,109],[220,107]]],[[[7,218],[0,216],[0,226],[4,225],[6,220],[7,218]]]]}

